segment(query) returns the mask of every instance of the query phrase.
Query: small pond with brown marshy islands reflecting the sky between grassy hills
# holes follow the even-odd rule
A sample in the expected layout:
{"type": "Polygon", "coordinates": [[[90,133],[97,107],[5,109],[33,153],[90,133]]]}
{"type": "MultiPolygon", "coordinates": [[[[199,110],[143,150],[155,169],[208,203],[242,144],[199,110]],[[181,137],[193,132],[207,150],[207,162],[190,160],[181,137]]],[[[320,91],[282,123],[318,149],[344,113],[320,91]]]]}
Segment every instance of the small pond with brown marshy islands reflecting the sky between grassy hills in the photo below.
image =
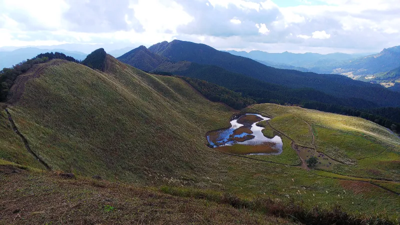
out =
{"type": "Polygon", "coordinates": [[[226,129],[210,131],[208,145],[216,150],[233,154],[268,155],[282,153],[282,139],[279,136],[268,138],[262,133],[260,121],[270,118],[259,114],[244,114],[230,121],[226,129]]]}

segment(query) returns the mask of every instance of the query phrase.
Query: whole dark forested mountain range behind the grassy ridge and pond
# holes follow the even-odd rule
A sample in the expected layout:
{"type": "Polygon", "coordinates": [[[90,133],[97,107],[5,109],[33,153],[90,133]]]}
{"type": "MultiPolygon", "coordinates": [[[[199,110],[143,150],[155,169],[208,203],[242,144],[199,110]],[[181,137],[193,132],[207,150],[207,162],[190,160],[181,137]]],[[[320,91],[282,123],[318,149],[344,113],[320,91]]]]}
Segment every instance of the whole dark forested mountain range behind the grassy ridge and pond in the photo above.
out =
{"type": "Polygon", "coordinates": [[[358,107],[400,105],[398,93],[377,84],[356,81],[336,74],[277,69],[247,57],[232,55],[205,44],[188,41],[164,41],[148,49],[141,46],[118,59],[146,71],[168,71],[204,79],[234,90],[242,88],[241,92],[249,91],[251,87],[247,84],[254,83],[251,90],[253,92],[246,93],[265,99],[276,99],[274,94],[280,94],[319,101],[321,99],[317,99],[314,95],[320,95],[330,103],[351,104],[358,107]],[[249,80],[250,78],[255,82],[249,80]],[[257,82],[265,86],[260,87],[257,82]],[[236,86],[231,83],[235,83],[236,86]],[[245,84],[237,86],[237,83],[245,84]],[[301,95],[298,94],[297,90],[304,88],[308,89],[301,95]],[[264,95],[268,89],[276,92],[264,95]]]}

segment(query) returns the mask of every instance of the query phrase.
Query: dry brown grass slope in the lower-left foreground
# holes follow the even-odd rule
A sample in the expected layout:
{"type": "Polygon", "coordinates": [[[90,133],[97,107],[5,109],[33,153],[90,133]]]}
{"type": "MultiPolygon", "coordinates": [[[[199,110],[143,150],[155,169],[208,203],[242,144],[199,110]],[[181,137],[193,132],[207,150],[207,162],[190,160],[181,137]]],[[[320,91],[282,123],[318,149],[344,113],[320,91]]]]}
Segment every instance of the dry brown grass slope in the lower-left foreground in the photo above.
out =
{"type": "Polygon", "coordinates": [[[282,224],[203,199],[88,178],[0,167],[0,224],[282,224]]]}

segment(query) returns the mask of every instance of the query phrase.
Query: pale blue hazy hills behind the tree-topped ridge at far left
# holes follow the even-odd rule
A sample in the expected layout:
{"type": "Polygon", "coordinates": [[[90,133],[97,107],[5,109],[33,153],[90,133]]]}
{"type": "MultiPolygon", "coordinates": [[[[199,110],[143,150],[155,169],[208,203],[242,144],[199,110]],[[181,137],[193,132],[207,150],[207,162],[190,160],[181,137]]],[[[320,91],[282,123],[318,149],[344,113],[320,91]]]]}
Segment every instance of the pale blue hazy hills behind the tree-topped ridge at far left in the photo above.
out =
{"type": "Polygon", "coordinates": [[[68,51],[64,49],[40,49],[36,47],[19,48],[13,51],[0,51],[0,69],[11,67],[22,60],[32,58],[40,53],[45,52],[61,52],[68,56],[72,56],[77,60],[83,60],[87,54],[79,51],[68,51]]]}

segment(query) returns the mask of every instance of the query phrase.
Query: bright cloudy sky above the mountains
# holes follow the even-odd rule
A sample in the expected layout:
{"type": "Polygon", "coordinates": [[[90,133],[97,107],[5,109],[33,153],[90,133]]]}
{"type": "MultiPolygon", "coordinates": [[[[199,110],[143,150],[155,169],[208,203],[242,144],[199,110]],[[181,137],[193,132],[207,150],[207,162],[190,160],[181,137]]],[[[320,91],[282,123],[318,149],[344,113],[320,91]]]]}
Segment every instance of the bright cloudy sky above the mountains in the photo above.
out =
{"type": "Polygon", "coordinates": [[[0,0],[0,47],[150,46],[378,52],[400,45],[398,0],[0,0]]]}

